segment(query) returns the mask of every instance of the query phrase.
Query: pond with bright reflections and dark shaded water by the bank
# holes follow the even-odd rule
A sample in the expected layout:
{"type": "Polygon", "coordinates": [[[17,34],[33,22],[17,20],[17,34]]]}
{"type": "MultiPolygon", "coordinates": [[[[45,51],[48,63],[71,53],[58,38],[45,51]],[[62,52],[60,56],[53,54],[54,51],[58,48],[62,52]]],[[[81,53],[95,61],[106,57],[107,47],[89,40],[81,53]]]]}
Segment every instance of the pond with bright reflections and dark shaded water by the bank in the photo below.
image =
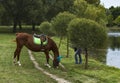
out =
{"type": "Polygon", "coordinates": [[[112,67],[120,68],[120,32],[109,32],[109,41],[105,49],[91,50],[90,55],[112,67]]]}

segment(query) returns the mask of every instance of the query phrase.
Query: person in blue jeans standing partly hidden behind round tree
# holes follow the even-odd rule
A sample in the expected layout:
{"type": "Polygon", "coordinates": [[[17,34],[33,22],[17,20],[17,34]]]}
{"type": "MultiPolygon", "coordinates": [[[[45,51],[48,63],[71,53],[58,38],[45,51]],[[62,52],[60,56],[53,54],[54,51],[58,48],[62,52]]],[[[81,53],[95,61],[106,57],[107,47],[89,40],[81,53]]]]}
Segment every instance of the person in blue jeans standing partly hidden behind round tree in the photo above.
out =
{"type": "Polygon", "coordinates": [[[75,64],[81,64],[82,63],[82,57],[81,57],[81,48],[74,48],[75,51],[75,64]],[[79,57],[79,61],[78,61],[78,57],[79,57]]]}

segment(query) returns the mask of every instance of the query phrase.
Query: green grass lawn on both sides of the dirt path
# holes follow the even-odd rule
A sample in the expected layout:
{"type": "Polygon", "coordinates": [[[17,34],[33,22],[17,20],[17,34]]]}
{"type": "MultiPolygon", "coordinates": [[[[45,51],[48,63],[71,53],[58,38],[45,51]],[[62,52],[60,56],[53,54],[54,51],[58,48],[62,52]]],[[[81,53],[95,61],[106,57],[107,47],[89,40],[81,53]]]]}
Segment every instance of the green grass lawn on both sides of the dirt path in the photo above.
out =
{"type": "MultiPolygon", "coordinates": [[[[13,64],[13,54],[16,48],[16,44],[13,42],[14,39],[15,34],[0,34],[0,83],[57,83],[49,76],[46,76],[35,69],[33,63],[29,59],[27,49],[25,47],[22,49],[20,57],[22,66],[19,67],[13,64]]],[[[52,39],[58,44],[58,38],[54,37],[52,39]]],[[[85,70],[84,55],[82,56],[82,64],[74,64],[73,49],[70,49],[69,58],[66,58],[65,40],[62,41],[59,51],[60,55],[63,56],[61,63],[65,66],[65,70],[62,68],[47,68],[44,66],[44,63],[46,62],[44,53],[33,52],[33,54],[40,66],[46,71],[69,80],[72,83],[120,82],[120,69],[108,67],[89,57],[89,66],[88,69],[85,70]]],[[[52,65],[52,60],[50,60],[50,65],[52,65]]]]}

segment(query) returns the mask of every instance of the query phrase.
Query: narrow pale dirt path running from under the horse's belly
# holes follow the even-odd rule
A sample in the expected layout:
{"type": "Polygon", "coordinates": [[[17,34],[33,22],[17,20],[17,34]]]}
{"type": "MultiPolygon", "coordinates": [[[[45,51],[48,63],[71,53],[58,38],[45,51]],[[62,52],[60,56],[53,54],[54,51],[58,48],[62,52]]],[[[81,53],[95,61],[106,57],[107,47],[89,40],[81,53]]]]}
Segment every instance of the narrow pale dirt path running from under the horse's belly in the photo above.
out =
{"type": "Polygon", "coordinates": [[[67,81],[67,80],[65,80],[65,79],[63,79],[63,78],[59,78],[58,76],[53,75],[53,74],[45,71],[45,70],[44,70],[43,68],[41,68],[41,67],[39,66],[39,64],[36,62],[35,58],[34,58],[33,55],[32,55],[32,52],[31,52],[30,50],[28,50],[28,53],[29,53],[29,56],[30,56],[31,61],[32,61],[32,62],[34,63],[34,65],[35,65],[35,68],[37,68],[38,70],[42,71],[44,74],[50,76],[52,79],[56,80],[58,83],[71,83],[71,82],[69,82],[69,81],[67,81]]]}

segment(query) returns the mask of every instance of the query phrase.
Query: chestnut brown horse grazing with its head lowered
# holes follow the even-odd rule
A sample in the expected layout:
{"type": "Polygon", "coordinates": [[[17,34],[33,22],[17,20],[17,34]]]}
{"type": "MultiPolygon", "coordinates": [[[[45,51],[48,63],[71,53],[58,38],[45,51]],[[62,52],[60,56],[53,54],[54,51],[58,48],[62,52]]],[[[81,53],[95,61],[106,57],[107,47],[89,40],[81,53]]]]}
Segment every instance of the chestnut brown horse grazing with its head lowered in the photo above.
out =
{"type": "MultiPolygon", "coordinates": [[[[44,41],[44,36],[40,36],[40,39],[44,41]]],[[[16,63],[16,58],[17,58],[17,63],[20,64],[19,61],[19,56],[20,52],[23,46],[27,47],[29,50],[32,50],[34,52],[44,52],[46,55],[46,60],[47,64],[49,64],[49,51],[52,51],[54,54],[54,59],[53,59],[53,67],[59,66],[59,60],[57,59],[59,57],[59,51],[56,43],[48,36],[47,38],[47,44],[46,45],[37,45],[33,42],[33,35],[28,34],[28,33],[16,33],[16,44],[17,48],[14,52],[14,63],[16,63]]]]}

